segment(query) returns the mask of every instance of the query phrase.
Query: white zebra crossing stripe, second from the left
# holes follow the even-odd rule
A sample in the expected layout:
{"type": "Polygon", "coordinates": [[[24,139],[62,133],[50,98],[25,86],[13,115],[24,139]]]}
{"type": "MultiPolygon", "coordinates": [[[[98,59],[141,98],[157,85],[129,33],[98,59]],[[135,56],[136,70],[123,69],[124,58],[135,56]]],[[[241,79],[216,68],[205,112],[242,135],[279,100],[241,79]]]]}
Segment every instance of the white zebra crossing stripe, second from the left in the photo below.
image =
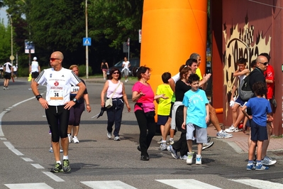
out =
{"type": "Polygon", "coordinates": [[[84,185],[87,185],[89,188],[94,189],[137,189],[131,185],[121,182],[120,180],[109,180],[109,181],[84,181],[81,182],[84,185]]]}

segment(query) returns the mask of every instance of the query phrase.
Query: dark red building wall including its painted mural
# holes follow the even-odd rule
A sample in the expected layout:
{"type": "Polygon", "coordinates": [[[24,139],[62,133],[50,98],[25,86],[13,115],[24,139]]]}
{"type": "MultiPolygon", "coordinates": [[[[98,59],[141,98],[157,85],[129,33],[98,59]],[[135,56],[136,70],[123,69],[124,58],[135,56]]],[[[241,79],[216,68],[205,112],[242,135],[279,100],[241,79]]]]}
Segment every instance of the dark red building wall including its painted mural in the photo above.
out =
{"type": "MultiPolygon", "coordinates": [[[[259,2],[259,1],[258,1],[259,2]]],[[[232,112],[229,107],[233,87],[233,72],[239,58],[252,60],[260,53],[270,53],[270,64],[275,72],[275,99],[277,109],[274,109],[275,135],[282,134],[282,7],[283,0],[261,0],[260,3],[247,0],[216,1],[211,0],[211,28],[213,34],[212,72],[213,95],[219,90],[218,77],[222,77],[223,124],[232,124],[232,112]],[[222,15],[217,13],[217,7],[222,6],[222,15]],[[277,7],[276,7],[277,6],[277,7]],[[221,22],[221,37],[219,34],[221,22]],[[217,33],[217,34],[216,34],[217,33]],[[219,45],[221,43],[221,46],[219,45]],[[221,63],[217,62],[221,53],[221,63]],[[214,57],[215,56],[215,57],[214,57]],[[213,58],[214,57],[214,58],[213,58]],[[222,69],[220,67],[222,66],[222,69]],[[217,77],[217,79],[216,79],[217,77]],[[217,90],[217,91],[216,91],[217,90]]],[[[218,100],[219,101],[219,100],[218,100]]],[[[213,99],[213,107],[219,102],[213,99]]]]}

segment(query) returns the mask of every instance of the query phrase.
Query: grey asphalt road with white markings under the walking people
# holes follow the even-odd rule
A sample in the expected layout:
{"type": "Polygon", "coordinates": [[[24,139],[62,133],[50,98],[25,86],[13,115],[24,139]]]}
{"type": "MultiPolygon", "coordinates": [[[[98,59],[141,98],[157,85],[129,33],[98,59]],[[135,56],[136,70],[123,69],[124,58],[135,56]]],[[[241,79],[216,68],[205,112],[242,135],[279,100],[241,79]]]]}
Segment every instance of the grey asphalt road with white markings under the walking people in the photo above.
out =
{"type": "MultiPolygon", "coordinates": [[[[139,129],[133,111],[123,111],[121,141],[107,139],[106,114],[91,118],[100,112],[103,85],[87,82],[92,110],[82,114],[80,143],[70,144],[70,173],[50,173],[54,156],[48,152],[45,111],[28,90],[26,78],[11,83],[9,90],[1,89],[0,188],[282,188],[282,159],[268,171],[246,171],[248,154],[236,153],[216,138],[212,139],[215,144],[203,151],[201,166],[188,166],[168,151],[160,151],[160,136],[152,140],[150,161],[140,161],[136,148],[139,129]]],[[[126,83],[133,108],[131,87],[126,83]]],[[[45,96],[45,86],[39,90],[45,96]]]]}

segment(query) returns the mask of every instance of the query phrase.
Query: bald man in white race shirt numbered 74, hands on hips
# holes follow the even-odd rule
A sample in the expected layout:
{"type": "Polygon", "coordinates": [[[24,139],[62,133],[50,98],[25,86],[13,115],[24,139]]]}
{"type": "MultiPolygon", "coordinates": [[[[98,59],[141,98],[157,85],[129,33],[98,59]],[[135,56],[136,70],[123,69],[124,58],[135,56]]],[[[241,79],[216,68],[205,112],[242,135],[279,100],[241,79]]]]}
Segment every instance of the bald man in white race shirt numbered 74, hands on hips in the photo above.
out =
{"type": "Polygon", "coordinates": [[[82,97],[86,89],[82,80],[72,70],[62,68],[63,59],[64,55],[60,51],[52,53],[50,56],[51,68],[40,72],[40,75],[31,83],[33,94],[45,109],[52,133],[52,148],[56,162],[55,168],[52,168],[51,172],[54,173],[71,171],[68,156],[69,140],[67,138],[70,108],[77,103],[77,100],[82,97]],[[47,92],[44,99],[38,91],[38,85],[45,83],[47,84],[47,92]],[[71,85],[79,87],[76,97],[72,100],[70,100],[71,85]],[[60,161],[60,138],[63,149],[62,163],[60,161]]]}

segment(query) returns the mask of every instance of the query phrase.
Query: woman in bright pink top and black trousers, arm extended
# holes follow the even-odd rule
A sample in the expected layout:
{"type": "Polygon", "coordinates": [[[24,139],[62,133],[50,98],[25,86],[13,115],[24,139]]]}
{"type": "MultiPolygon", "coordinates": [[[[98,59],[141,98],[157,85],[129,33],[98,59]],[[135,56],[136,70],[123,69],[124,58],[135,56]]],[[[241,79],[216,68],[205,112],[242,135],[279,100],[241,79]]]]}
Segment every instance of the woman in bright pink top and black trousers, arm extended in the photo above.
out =
{"type": "Polygon", "coordinates": [[[148,155],[148,148],[155,136],[155,99],[163,98],[167,99],[164,94],[155,95],[148,83],[150,80],[150,68],[141,66],[138,69],[133,70],[133,75],[138,77],[138,82],[133,85],[132,100],[135,103],[134,112],[140,128],[140,160],[148,161],[150,159],[148,155]]]}

